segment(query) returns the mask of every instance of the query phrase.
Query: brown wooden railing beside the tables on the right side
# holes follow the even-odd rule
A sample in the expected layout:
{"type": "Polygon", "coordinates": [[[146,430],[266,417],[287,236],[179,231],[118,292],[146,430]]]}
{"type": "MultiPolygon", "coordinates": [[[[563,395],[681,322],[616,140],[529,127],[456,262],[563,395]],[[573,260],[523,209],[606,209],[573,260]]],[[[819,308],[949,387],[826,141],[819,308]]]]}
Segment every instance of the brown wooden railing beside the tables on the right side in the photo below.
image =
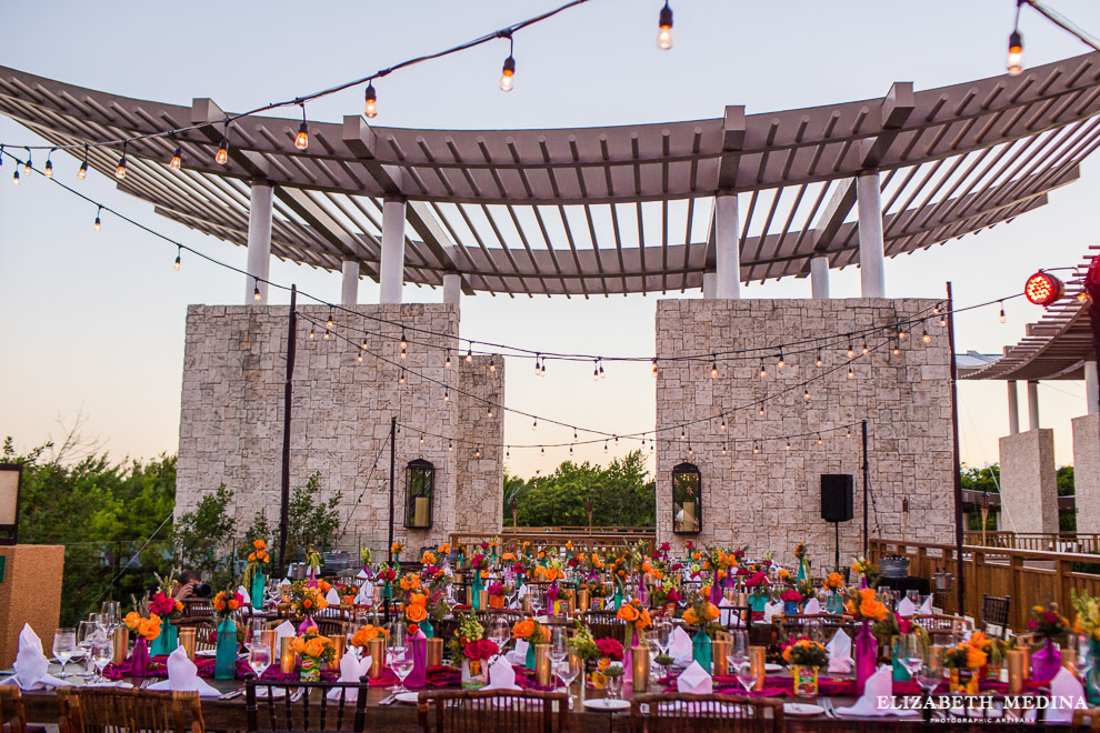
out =
{"type": "Polygon", "coordinates": [[[960,613],[956,603],[956,583],[960,576],[966,583],[966,608],[960,615],[980,619],[983,593],[1011,595],[1009,625],[1021,633],[1027,630],[1028,611],[1033,605],[1054,601],[1066,615],[1072,616],[1072,592],[1100,595],[1100,574],[1077,572],[1073,568],[1076,563],[1087,563],[1100,570],[1100,554],[964,544],[961,573],[953,544],[876,538],[869,541],[869,555],[874,562],[884,555],[906,555],[910,561],[909,574],[927,579],[933,588],[934,573],[947,570],[954,576],[951,590],[936,594],[936,605],[947,613],[960,613]]]}

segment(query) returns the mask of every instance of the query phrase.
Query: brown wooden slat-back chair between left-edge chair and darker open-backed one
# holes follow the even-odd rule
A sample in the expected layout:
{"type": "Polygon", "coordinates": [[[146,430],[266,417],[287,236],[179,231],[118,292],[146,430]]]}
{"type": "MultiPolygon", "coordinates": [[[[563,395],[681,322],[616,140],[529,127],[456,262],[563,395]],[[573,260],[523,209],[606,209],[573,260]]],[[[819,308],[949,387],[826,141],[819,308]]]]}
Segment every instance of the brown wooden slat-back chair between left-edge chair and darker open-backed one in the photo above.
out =
{"type": "Polygon", "coordinates": [[[203,733],[198,692],[59,687],[61,733],[203,733]]]}

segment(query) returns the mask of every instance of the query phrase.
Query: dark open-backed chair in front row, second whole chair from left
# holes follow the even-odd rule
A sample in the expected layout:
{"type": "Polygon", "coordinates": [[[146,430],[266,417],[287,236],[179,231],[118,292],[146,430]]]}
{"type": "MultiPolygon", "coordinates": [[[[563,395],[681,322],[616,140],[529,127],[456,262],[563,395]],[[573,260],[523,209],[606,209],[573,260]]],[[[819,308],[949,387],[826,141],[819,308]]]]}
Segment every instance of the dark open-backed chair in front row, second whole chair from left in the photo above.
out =
{"type": "Polygon", "coordinates": [[[244,680],[244,716],[258,731],[351,731],[367,729],[368,685],[361,682],[269,682],[244,680]],[[337,690],[337,700],[328,693],[337,690]],[[357,691],[356,700],[348,693],[357,691]],[[277,691],[282,691],[277,692],[277,691]]]}

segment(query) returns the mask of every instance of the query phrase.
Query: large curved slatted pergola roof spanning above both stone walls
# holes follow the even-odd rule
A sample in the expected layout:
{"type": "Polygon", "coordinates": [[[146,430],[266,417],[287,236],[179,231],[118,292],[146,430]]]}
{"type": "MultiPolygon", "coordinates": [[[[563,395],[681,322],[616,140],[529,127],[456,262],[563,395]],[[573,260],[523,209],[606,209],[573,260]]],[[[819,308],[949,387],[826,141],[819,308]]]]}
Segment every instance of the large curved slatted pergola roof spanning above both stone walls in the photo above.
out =
{"type": "MultiPolygon", "coordinates": [[[[806,277],[812,258],[859,262],[854,177],[881,173],[888,257],[1010,221],[1073,181],[1100,145],[1100,54],[881,99],[661,124],[412,130],[359,116],[233,122],[224,112],[93,91],[0,67],[0,112],[52,144],[103,142],[197,122],[176,141],[128,145],[119,188],[197,231],[248,237],[249,185],[274,187],[271,250],[378,279],[382,202],[408,201],[406,282],[458,274],[466,292],[608,295],[699,288],[716,268],[716,195],[739,198],[744,282],[806,277]],[[168,167],[176,145],[183,169],[168,167]]],[[[82,158],[82,150],[71,151],[82,158]]],[[[91,148],[110,175],[121,150],[91,148]]]]}

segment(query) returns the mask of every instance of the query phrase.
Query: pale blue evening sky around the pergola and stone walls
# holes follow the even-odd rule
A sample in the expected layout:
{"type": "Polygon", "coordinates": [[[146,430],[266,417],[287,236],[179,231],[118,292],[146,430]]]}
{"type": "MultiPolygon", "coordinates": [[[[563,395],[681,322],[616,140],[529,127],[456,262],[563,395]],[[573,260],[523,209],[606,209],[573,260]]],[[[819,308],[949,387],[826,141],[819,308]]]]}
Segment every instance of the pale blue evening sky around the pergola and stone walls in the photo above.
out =
{"type": "MultiPolygon", "coordinates": [[[[1100,31],[1100,3],[1050,0],[1086,29],[1100,31]]],[[[0,63],[136,98],[188,104],[211,97],[238,110],[329,87],[410,56],[438,50],[552,6],[517,2],[243,2],[192,12],[149,2],[38,2],[6,8],[0,63]]],[[[784,0],[748,3],[679,0],[676,48],[656,49],[660,0],[593,0],[516,38],[516,90],[497,89],[503,42],[396,73],[378,87],[386,125],[423,128],[628,124],[881,97],[894,81],[927,89],[1003,71],[1012,0],[784,0]]],[[[1038,66],[1087,49],[1024,9],[1026,60],[1038,66]]],[[[354,89],[309,106],[311,119],[339,120],[362,107],[354,89]]],[[[8,119],[0,141],[40,142],[8,119]]],[[[39,161],[40,162],[40,161],[39,161]]],[[[61,155],[68,182],[77,163],[61,155]]],[[[4,165],[4,175],[10,178],[4,165]]],[[[140,221],[239,267],[244,250],[160,219],[150,207],[91,174],[81,190],[140,221]]],[[[1078,264],[1094,243],[1092,213],[1100,164],[1050,197],[1050,204],[1010,225],[887,263],[889,295],[941,297],[954,281],[960,304],[1017,292],[1039,267],[1078,264]]],[[[88,432],[112,455],[174,452],[179,433],[183,321],[188,303],[238,303],[241,278],[107,218],[34,178],[0,188],[0,434],[26,449],[78,410],[88,432]]],[[[273,261],[271,278],[336,300],[339,273],[273,261]]],[[[858,271],[833,274],[837,297],[857,295],[858,271]]],[[[744,291],[752,298],[804,298],[808,281],[744,291]]],[[[669,295],[672,297],[672,295],[669,295]]],[[[360,301],[377,301],[363,282],[360,301]]],[[[408,288],[406,300],[438,301],[439,291],[408,288]]],[[[533,349],[648,354],[657,297],[593,300],[464,298],[462,333],[533,349]]],[[[286,297],[273,292],[273,302],[286,297]]],[[[996,352],[1014,342],[1040,310],[1020,300],[960,317],[960,349],[996,352]]],[[[1007,432],[1003,383],[962,384],[963,459],[997,460],[1007,432]]],[[[1040,388],[1043,426],[1056,431],[1059,463],[1072,461],[1070,418],[1084,412],[1083,385],[1040,388]]],[[[1021,391],[1022,398],[1022,391],[1021,391]]],[[[591,380],[587,364],[551,364],[536,381],[529,362],[511,364],[507,402],[566,422],[627,433],[653,421],[649,366],[611,364],[591,380]]],[[[1023,411],[1026,420],[1026,409],[1023,411]]],[[[540,441],[568,441],[542,426],[540,441]]],[[[529,442],[530,423],[506,421],[506,440],[529,442]]],[[[620,451],[626,450],[626,445],[620,451]]],[[[512,451],[509,470],[529,475],[566,458],[566,449],[512,451]]],[[[577,451],[604,462],[602,446],[577,451]]]]}

